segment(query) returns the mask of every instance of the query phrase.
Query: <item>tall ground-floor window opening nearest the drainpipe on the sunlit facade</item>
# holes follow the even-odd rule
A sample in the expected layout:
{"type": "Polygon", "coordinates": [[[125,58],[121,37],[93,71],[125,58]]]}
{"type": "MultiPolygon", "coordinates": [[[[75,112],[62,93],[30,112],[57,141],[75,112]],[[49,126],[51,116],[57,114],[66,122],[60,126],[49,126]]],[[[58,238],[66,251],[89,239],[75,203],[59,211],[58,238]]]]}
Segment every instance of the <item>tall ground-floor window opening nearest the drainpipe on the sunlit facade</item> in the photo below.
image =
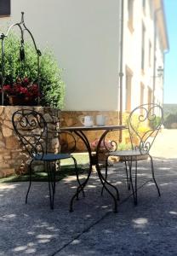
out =
{"type": "Polygon", "coordinates": [[[133,77],[133,73],[127,67],[126,68],[126,102],[125,102],[125,109],[127,112],[131,111],[132,77],[133,77]]]}

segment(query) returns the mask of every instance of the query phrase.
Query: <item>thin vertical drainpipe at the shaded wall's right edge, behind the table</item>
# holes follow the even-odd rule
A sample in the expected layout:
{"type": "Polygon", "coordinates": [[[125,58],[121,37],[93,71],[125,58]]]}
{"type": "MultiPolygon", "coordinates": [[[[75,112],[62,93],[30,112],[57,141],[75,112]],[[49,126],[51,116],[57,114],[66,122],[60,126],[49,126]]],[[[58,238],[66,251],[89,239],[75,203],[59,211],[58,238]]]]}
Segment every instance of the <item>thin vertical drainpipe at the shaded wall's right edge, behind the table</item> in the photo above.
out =
{"type": "MultiPolygon", "coordinates": [[[[121,33],[120,33],[120,70],[119,70],[119,84],[120,84],[120,105],[119,105],[119,125],[123,125],[123,0],[121,1],[121,33]]],[[[119,143],[122,143],[123,133],[119,133],[119,143]]]]}

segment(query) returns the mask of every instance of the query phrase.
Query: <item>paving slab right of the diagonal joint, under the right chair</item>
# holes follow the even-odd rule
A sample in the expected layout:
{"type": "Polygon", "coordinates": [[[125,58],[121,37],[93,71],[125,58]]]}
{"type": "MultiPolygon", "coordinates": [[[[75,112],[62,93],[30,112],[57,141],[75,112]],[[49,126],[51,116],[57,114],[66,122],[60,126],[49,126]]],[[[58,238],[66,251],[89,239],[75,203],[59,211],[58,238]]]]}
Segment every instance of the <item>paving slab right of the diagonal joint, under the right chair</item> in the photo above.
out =
{"type": "Polygon", "coordinates": [[[147,184],[139,191],[137,207],[130,198],[117,214],[109,212],[55,255],[177,255],[177,161],[158,160],[156,164],[161,198],[147,184]]]}

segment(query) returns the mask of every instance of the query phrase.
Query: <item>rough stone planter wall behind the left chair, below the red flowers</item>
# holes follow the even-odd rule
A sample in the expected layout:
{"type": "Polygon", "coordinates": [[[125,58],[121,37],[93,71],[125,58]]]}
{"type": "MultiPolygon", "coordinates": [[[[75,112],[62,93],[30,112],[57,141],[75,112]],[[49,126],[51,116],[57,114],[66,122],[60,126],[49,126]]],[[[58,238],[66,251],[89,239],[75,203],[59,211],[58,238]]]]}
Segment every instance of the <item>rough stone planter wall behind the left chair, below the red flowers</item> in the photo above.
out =
{"type": "MultiPolygon", "coordinates": [[[[11,121],[12,114],[20,108],[30,108],[43,113],[44,119],[49,123],[51,151],[58,152],[60,150],[59,139],[57,133],[54,132],[56,128],[60,127],[60,111],[43,107],[0,106],[0,177],[14,172],[26,172],[29,155],[26,154],[26,150],[22,148],[18,137],[14,134],[11,121]]],[[[40,168],[40,166],[35,167],[40,168]]]]}

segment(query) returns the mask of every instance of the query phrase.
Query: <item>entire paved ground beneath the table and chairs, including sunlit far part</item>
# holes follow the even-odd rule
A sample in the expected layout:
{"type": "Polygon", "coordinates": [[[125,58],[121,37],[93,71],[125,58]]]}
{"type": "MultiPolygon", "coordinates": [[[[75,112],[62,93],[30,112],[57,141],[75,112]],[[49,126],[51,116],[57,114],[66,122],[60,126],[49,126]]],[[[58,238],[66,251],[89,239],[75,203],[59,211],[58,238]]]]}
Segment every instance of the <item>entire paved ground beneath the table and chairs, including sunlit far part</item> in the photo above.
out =
{"type": "MultiPolygon", "coordinates": [[[[49,209],[48,183],[0,184],[0,255],[177,255],[177,131],[164,130],[151,153],[155,156],[157,183],[138,191],[138,206],[126,186],[124,166],[111,167],[109,179],[117,185],[121,201],[100,195],[100,181],[93,173],[86,197],[80,196],[69,212],[76,178],[57,183],[54,211],[49,209]]],[[[149,161],[140,161],[139,186],[151,177],[149,161]]],[[[83,177],[84,178],[84,177],[83,177]]]]}

